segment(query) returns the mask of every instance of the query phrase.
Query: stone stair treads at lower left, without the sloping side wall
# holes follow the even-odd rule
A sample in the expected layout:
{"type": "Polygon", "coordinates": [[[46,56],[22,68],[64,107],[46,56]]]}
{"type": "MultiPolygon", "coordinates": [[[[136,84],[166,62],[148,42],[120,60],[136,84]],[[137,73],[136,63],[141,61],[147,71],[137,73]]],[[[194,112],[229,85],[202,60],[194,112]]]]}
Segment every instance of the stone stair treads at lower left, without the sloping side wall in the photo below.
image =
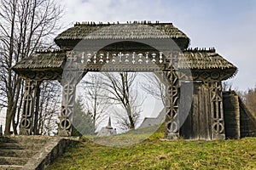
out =
{"type": "Polygon", "coordinates": [[[48,140],[42,136],[0,137],[0,170],[21,169],[48,140]]]}

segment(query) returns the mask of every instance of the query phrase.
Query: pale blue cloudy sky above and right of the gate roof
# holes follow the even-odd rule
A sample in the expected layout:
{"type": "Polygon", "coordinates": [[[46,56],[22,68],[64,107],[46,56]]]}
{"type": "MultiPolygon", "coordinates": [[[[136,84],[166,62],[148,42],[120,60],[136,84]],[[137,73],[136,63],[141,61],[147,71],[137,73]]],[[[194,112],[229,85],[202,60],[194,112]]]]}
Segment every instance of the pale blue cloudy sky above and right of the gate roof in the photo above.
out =
{"type": "Polygon", "coordinates": [[[172,22],[191,39],[190,47],[214,47],[218,54],[238,67],[238,74],[230,80],[234,88],[247,90],[255,87],[255,0],[57,1],[64,5],[65,14],[61,22],[66,28],[76,21],[172,22]]]}

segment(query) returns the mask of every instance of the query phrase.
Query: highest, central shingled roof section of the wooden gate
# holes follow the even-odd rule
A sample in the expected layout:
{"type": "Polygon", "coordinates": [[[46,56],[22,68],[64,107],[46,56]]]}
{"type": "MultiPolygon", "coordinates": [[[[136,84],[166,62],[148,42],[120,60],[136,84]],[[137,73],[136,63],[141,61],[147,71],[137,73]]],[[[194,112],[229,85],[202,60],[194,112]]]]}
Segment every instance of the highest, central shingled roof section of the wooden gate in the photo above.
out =
{"type": "Polygon", "coordinates": [[[172,23],[76,24],[55,37],[61,48],[70,48],[80,40],[133,40],[172,38],[180,48],[188,48],[189,37],[172,23]],[[74,43],[75,42],[75,43],[74,43]]]}

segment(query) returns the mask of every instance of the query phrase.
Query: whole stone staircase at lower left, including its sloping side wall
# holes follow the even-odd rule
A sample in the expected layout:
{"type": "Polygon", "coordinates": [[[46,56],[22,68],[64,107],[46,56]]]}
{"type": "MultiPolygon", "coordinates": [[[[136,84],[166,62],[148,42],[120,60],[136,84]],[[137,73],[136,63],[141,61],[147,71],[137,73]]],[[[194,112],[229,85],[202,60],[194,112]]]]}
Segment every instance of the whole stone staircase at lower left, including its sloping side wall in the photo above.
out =
{"type": "Polygon", "coordinates": [[[44,169],[76,138],[0,136],[0,170],[44,169]]]}

